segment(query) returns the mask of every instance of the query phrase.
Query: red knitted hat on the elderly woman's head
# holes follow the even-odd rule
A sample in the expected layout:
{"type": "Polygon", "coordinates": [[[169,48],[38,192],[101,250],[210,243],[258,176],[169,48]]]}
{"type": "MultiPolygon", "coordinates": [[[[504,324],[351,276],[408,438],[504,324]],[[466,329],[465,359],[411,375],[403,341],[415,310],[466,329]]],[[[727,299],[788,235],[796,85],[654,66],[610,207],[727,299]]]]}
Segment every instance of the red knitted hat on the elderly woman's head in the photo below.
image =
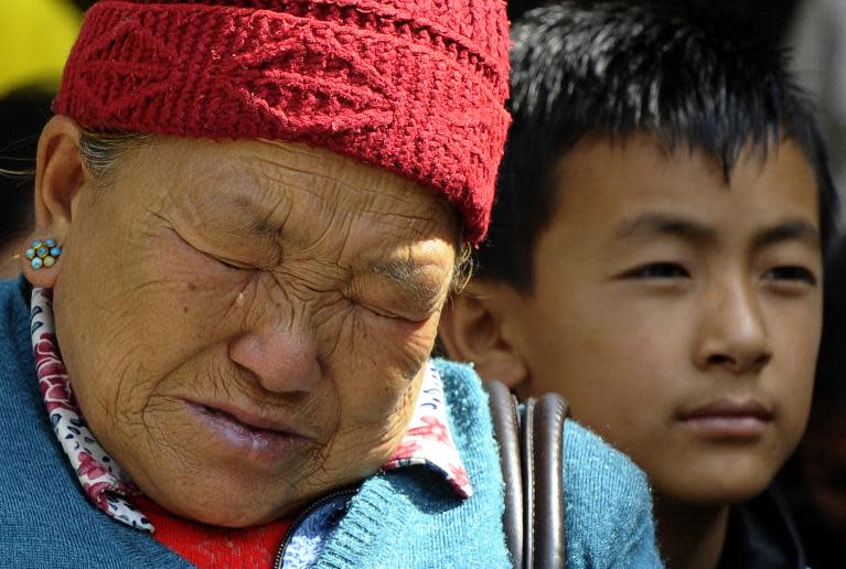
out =
{"type": "Polygon", "coordinates": [[[101,0],[57,114],[306,142],[442,192],[484,236],[508,116],[502,0],[101,0]]]}

